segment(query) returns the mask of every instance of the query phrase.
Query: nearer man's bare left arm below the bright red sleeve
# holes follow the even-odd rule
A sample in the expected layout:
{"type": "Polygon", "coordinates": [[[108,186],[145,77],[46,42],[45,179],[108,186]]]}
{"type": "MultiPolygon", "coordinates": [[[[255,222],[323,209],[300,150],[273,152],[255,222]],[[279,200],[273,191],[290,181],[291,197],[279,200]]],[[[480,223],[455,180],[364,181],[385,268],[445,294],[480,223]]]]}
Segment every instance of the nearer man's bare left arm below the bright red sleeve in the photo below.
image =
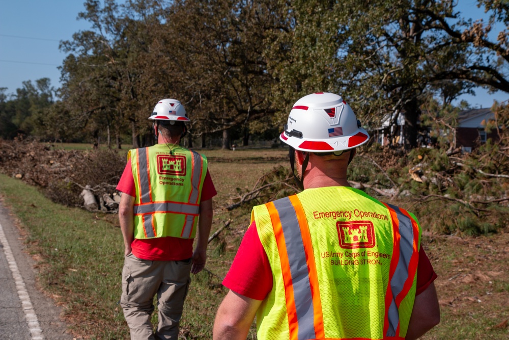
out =
{"type": "Polygon", "coordinates": [[[261,300],[228,292],[216,313],[213,340],[245,340],[261,300]]]}

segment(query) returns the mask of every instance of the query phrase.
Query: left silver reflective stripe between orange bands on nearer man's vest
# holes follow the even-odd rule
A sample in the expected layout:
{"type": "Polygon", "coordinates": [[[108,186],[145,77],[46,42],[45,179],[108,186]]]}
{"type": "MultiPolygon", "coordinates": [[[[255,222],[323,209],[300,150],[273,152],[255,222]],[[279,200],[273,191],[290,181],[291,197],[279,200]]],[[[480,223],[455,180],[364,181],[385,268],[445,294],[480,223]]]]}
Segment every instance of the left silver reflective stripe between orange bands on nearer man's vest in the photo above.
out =
{"type": "Polygon", "coordinates": [[[314,339],[314,309],[309,273],[307,271],[306,253],[300,233],[299,222],[295,208],[288,197],[273,202],[281,221],[282,231],[290,263],[293,294],[297,311],[299,340],[314,339]]]}

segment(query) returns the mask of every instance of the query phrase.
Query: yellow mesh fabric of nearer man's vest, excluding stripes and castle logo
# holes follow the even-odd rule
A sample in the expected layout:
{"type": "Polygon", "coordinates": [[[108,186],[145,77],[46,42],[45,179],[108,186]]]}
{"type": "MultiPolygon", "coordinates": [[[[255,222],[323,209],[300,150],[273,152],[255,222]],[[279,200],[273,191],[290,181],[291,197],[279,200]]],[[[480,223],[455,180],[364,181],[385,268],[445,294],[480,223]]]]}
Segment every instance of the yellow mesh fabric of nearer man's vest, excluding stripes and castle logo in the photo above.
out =
{"type": "MultiPolygon", "coordinates": [[[[383,338],[385,293],[393,251],[393,226],[387,207],[362,191],[347,187],[307,189],[297,197],[313,244],[325,337],[383,338]],[[373,245],[352,249],[345,248],[344,243],[343,247],[340,245],[340,229],[346,227],[346,222],[355,221],[373,225],[373,245]]],[[[258,338],[288,339],[281,260],[266,205],[254,207],[251,219],[256,220],[273,275],[273,289],[257,314],[258,338]]],[[[415,278],[413,281],[413,290],[400,305],[401,336],[406,333],[413,307],[415,278]]]]}

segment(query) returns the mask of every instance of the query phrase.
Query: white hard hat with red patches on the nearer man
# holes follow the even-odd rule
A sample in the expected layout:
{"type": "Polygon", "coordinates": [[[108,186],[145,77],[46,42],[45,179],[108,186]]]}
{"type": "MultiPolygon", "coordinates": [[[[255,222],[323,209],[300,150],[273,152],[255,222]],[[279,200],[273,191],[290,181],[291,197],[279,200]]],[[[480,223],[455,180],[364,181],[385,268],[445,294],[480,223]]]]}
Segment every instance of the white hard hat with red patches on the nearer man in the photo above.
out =
{"type": "Polygon", "coordinates": [[[319,92],[297,100],[279,139],[296,150],[334,152],[353,149],[370,136],[340,95],[319,92]]]}

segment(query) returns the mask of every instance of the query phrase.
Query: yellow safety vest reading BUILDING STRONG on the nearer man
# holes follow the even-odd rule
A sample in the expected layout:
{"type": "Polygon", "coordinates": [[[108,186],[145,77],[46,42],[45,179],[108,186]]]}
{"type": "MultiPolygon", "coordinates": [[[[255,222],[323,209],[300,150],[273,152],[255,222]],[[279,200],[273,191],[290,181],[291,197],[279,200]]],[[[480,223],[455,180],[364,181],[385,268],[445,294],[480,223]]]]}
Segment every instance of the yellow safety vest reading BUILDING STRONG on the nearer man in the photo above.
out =
{"type": "Polygon", "coordinates": [[[421,229],[412,214],[349,187],[253,208],[273,274],[258,338],[404,339],[421,229]]]}

